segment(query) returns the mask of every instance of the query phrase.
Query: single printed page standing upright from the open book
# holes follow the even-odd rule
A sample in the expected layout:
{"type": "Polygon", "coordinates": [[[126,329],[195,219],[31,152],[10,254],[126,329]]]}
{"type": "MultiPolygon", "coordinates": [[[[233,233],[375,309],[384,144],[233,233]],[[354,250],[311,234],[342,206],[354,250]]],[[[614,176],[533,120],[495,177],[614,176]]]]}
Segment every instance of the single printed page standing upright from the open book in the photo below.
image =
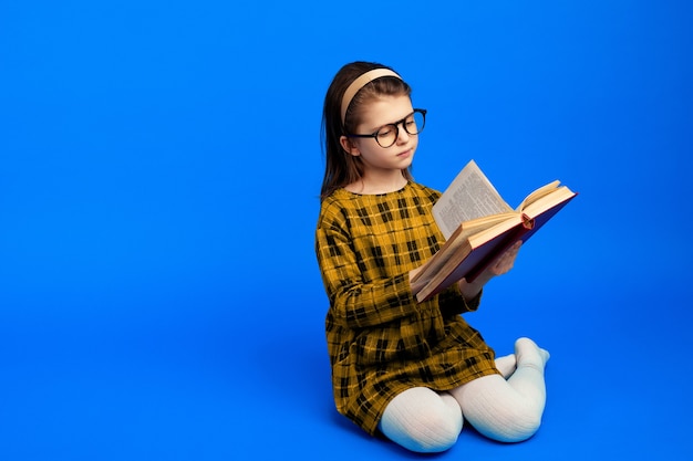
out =
{"type": "Polygon", "coordinates": [[[461,222],[509,211],[513,209],[474,160],[459,171],[433,206],[433,217],[445,239],[452,235],[461,222]]]}

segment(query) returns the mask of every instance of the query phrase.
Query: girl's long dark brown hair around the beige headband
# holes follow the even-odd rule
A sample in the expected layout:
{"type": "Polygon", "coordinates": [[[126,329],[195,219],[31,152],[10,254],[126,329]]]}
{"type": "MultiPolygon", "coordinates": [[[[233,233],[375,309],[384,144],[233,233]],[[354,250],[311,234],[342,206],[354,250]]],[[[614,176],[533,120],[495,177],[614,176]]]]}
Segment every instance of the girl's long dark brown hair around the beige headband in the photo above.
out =
{"type": "MultiPolygon", "coordinates": [[[[361,88],[349,104],[344,124],[341,118],[341,104],[344,92],[351,83],[365,72],[374,69],[390,69],[385,65],[356,61],[344,65],[337,73],[324,97],[322,111],[321,137],[323,155],[325,157],[324,177],[320,199],[324,200],[337,189],[358,181],[363,176],[363,163],[360,157],[346,153],[340,144],[340,137],[350,133],[359,125],[359,111],[365,103],[377,96],[412,95],[412,88],[406,82],[394,77],[383,76],[368,83],[361,88]]],[[[412,179],[410,169],[402,171],[407,180],[412,179]]]]}

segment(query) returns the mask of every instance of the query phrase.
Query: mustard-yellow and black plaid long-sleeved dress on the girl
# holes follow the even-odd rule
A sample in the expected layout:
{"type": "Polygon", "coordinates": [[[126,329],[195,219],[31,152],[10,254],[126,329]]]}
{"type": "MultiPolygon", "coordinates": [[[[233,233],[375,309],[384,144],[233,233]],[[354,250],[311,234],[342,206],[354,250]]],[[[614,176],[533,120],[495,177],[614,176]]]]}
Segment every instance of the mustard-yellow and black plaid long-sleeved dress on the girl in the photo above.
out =
{"type": "Polygon", "coordinates": [[[494,350],[459,315],[457,287],[418,303],[408,283],[443,242],[431,208],[441,193],[408,182],[384,195],[339,189],[322,201],[316,253],[330,301],[325,318],[334,401],[374,434],[390,400],[411,387],[448,390],[498,373],[494,350]]]}

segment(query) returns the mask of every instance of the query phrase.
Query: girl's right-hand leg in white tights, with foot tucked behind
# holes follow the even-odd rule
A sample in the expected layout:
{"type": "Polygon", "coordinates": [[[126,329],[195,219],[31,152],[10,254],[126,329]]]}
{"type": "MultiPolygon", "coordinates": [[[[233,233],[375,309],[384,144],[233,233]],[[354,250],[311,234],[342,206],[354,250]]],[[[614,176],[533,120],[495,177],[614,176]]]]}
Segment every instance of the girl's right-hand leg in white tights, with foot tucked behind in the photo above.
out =
{"type": "Polygon", "coordinates": [[[507,381],[498,375],[484,376],[451,390],[465,419],[484,436],[503,442],[534,436],[546,404],[548,352],[520,338],[515,343],[515,356],[517,369],[507,381]]]}

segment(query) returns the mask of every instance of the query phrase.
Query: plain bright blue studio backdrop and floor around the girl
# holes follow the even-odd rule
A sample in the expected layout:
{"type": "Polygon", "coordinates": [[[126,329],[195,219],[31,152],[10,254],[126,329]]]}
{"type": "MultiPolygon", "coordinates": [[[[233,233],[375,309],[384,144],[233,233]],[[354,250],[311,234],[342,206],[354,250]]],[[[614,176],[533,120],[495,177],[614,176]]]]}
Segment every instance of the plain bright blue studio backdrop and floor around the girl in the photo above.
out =
{"type": "Polygon", "coordinates": [[[580,192],[468,322],[550,349],[544,426],[441,459],[690,444],[693,8],[0,2],[0,458],[417,459],[337,415],[313,230],[324,92],[394,66],[414,163],[580,192]]]}

